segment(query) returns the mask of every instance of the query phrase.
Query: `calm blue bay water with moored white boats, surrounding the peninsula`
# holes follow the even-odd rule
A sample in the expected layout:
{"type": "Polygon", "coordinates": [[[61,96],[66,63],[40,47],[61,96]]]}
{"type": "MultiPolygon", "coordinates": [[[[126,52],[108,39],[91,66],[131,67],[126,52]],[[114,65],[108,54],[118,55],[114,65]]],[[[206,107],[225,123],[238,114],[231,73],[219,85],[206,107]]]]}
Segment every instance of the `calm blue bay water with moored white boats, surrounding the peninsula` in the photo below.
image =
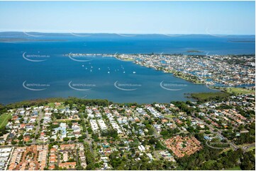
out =
{"type": "Polygon", "coordinates": [[[208,54],[255,54],[255,42],[252,40],[255,41],[255,36],[91,35],[79,37],[52,34],[29,37],[21,33],[9,35],[1,33],[0,102],[6,104],[35,98],[68,96],[140,103],[187,100],[184,93],[213,90],[129,61],[119,61],[112,57],[87,57],[82,59],[89,61],[79,62],[64,57],[63,54],[69,52],[185,54],[189,49],[204,51],[199,54],[207,52],[208,54]],[[9,38],[57,41],[21,42],[20,40],[10,41],[9,38]],[[38,55],[32,58],[25,56],[28,59],[44,61],[28,61],[23,58],[24,52],[26,55],[38,55]],[[28,90],[29,88],[33,90],[28,90]]]}

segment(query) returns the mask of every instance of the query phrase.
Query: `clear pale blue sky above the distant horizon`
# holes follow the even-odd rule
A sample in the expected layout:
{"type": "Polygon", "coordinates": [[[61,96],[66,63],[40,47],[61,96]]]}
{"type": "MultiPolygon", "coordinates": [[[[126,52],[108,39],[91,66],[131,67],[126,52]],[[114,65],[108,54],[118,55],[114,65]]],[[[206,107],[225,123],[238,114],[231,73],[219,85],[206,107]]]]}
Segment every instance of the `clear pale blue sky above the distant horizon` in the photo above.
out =
{"type": "Polygon", "coordinates": [[[255,1],[0,1],[0,31],[255,35],[255,1]]]}

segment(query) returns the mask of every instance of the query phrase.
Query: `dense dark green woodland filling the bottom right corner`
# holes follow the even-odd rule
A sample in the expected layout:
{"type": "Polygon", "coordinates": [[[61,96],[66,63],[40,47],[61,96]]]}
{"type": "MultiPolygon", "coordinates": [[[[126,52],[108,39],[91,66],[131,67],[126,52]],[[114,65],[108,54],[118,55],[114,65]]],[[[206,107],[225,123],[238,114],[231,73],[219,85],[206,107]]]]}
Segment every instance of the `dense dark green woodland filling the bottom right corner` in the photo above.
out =
{"type": "MultiPolygon", "coordinates": [[[[196,134],[196,138],[204,141],[203,134],[196,134]]],[[[243,153],[241,148],[237,151],[223,152],[204,146],[201,151],[179,158],[177,163],[179,164],[178,170],[223,170],[233,167],[240,167],[242,170],[255,170],[253,152],[243,153]]]]}

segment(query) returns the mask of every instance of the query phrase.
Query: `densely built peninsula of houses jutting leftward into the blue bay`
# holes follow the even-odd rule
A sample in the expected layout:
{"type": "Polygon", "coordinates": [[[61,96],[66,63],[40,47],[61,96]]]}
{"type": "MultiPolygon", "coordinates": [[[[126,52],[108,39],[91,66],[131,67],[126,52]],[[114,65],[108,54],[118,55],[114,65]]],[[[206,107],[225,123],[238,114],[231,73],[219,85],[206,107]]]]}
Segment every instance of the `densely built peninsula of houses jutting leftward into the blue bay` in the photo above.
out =
{"type": "Polygon", "coordinates": [[[122,61],[172,73],[193,83],[216,88],[255,85],[255,54],[65,54],[72,57],[115,57],[122,61]]]}

